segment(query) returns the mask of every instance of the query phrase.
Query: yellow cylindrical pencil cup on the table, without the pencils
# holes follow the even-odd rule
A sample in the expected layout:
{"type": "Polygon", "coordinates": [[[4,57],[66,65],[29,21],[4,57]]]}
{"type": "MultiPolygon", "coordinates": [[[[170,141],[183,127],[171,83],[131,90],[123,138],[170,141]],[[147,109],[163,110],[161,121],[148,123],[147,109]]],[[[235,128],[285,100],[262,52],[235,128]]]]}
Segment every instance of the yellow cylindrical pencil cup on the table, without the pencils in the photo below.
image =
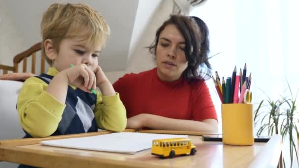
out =
{"type": "Polygon", "coordinates": [[[229,145],[252,145],[253,105],[222,104],[222,141],[229,145]]]}

